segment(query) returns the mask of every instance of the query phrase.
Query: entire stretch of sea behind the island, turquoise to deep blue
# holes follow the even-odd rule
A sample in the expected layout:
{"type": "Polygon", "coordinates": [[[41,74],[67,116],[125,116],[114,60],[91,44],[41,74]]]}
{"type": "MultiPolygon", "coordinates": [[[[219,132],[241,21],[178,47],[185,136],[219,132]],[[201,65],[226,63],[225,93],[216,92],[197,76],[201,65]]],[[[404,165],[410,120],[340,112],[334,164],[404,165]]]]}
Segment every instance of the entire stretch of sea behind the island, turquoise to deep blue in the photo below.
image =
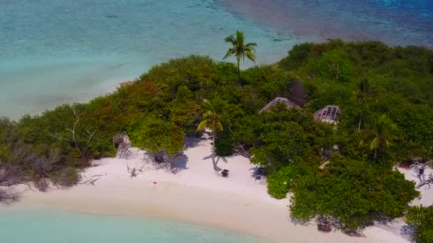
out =
{"type": "Polygon", "coordinates": [[[87,101],[169,58],[221,60],[236,29],[257,63],[327,38],[432,47],[433,1],[0,0],[0,116],[87,101]]]}

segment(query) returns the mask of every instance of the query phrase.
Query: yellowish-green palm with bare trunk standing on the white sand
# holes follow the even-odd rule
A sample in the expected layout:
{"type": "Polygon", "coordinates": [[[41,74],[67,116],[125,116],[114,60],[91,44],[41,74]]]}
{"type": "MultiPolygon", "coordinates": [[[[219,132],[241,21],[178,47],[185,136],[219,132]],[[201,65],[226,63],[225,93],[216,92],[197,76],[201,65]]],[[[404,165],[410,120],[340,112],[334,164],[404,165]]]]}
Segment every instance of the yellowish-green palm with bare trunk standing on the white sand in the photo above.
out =
{"type": "Polygon", "coordinates": [[[208,128],[212,131],[212,164],[215,171],[221,171],[221,168],[216,166],[215,161],[215,139],[218,131],[223,131],[222,121],[224,120],[224,102],[221,102],[219,97],[211,100],[204,101],[205,112],[203,114],[203,121],[197,126],[197,131],[208,128]]]}

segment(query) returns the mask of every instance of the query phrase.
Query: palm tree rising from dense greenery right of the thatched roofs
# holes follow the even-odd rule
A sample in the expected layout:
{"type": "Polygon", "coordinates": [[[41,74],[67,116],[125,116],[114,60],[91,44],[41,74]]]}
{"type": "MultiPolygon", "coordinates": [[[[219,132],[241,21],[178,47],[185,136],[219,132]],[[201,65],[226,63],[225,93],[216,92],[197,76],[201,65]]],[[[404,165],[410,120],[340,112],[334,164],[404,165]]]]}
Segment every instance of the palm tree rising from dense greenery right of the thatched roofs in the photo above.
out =
{"type": "MultiPolygon", "coordinates": [[[[373,129],[366,130],[366,138],[370,139],[370,150],[375,151],[374,159],[377,158],[377,151],[383,147],[392,146],[392,140],[395,139],[395,132],[397,131],[397,125],[392,122],[386,114],[377,119],[373,129]]],[[[365,141],[361,141],[360,145],[365,144],[365,141]]]]}

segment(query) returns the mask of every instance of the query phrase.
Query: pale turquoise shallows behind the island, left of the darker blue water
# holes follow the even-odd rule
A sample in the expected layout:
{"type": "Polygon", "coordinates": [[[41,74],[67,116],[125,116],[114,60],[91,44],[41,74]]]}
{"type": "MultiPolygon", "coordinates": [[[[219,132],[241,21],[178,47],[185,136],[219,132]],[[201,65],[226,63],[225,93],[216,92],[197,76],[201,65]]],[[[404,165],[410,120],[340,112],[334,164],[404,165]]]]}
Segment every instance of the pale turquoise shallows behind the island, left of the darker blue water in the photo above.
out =
{"type": "Polygon", "coordinates": [[[224,38],[236,29],[259,45],[257,63],[276,61],[302,41],[239,18],[214,0],[0,4],[0,116],[13,118],[85,101],[170,58],[221,60],[224,38]]]}

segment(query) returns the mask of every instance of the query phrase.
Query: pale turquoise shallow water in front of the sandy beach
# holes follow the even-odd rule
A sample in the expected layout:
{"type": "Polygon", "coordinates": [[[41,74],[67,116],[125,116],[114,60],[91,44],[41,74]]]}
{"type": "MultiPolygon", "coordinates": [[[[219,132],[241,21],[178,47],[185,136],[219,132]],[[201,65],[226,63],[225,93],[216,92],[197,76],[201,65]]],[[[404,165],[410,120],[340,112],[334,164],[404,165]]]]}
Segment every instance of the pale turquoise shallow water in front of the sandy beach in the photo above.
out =
{"type": "Polygon", "coordinates": [[[180,222],[73,212],[0,212],[4,243],[263,242],[254,237],[180,222]]]}

